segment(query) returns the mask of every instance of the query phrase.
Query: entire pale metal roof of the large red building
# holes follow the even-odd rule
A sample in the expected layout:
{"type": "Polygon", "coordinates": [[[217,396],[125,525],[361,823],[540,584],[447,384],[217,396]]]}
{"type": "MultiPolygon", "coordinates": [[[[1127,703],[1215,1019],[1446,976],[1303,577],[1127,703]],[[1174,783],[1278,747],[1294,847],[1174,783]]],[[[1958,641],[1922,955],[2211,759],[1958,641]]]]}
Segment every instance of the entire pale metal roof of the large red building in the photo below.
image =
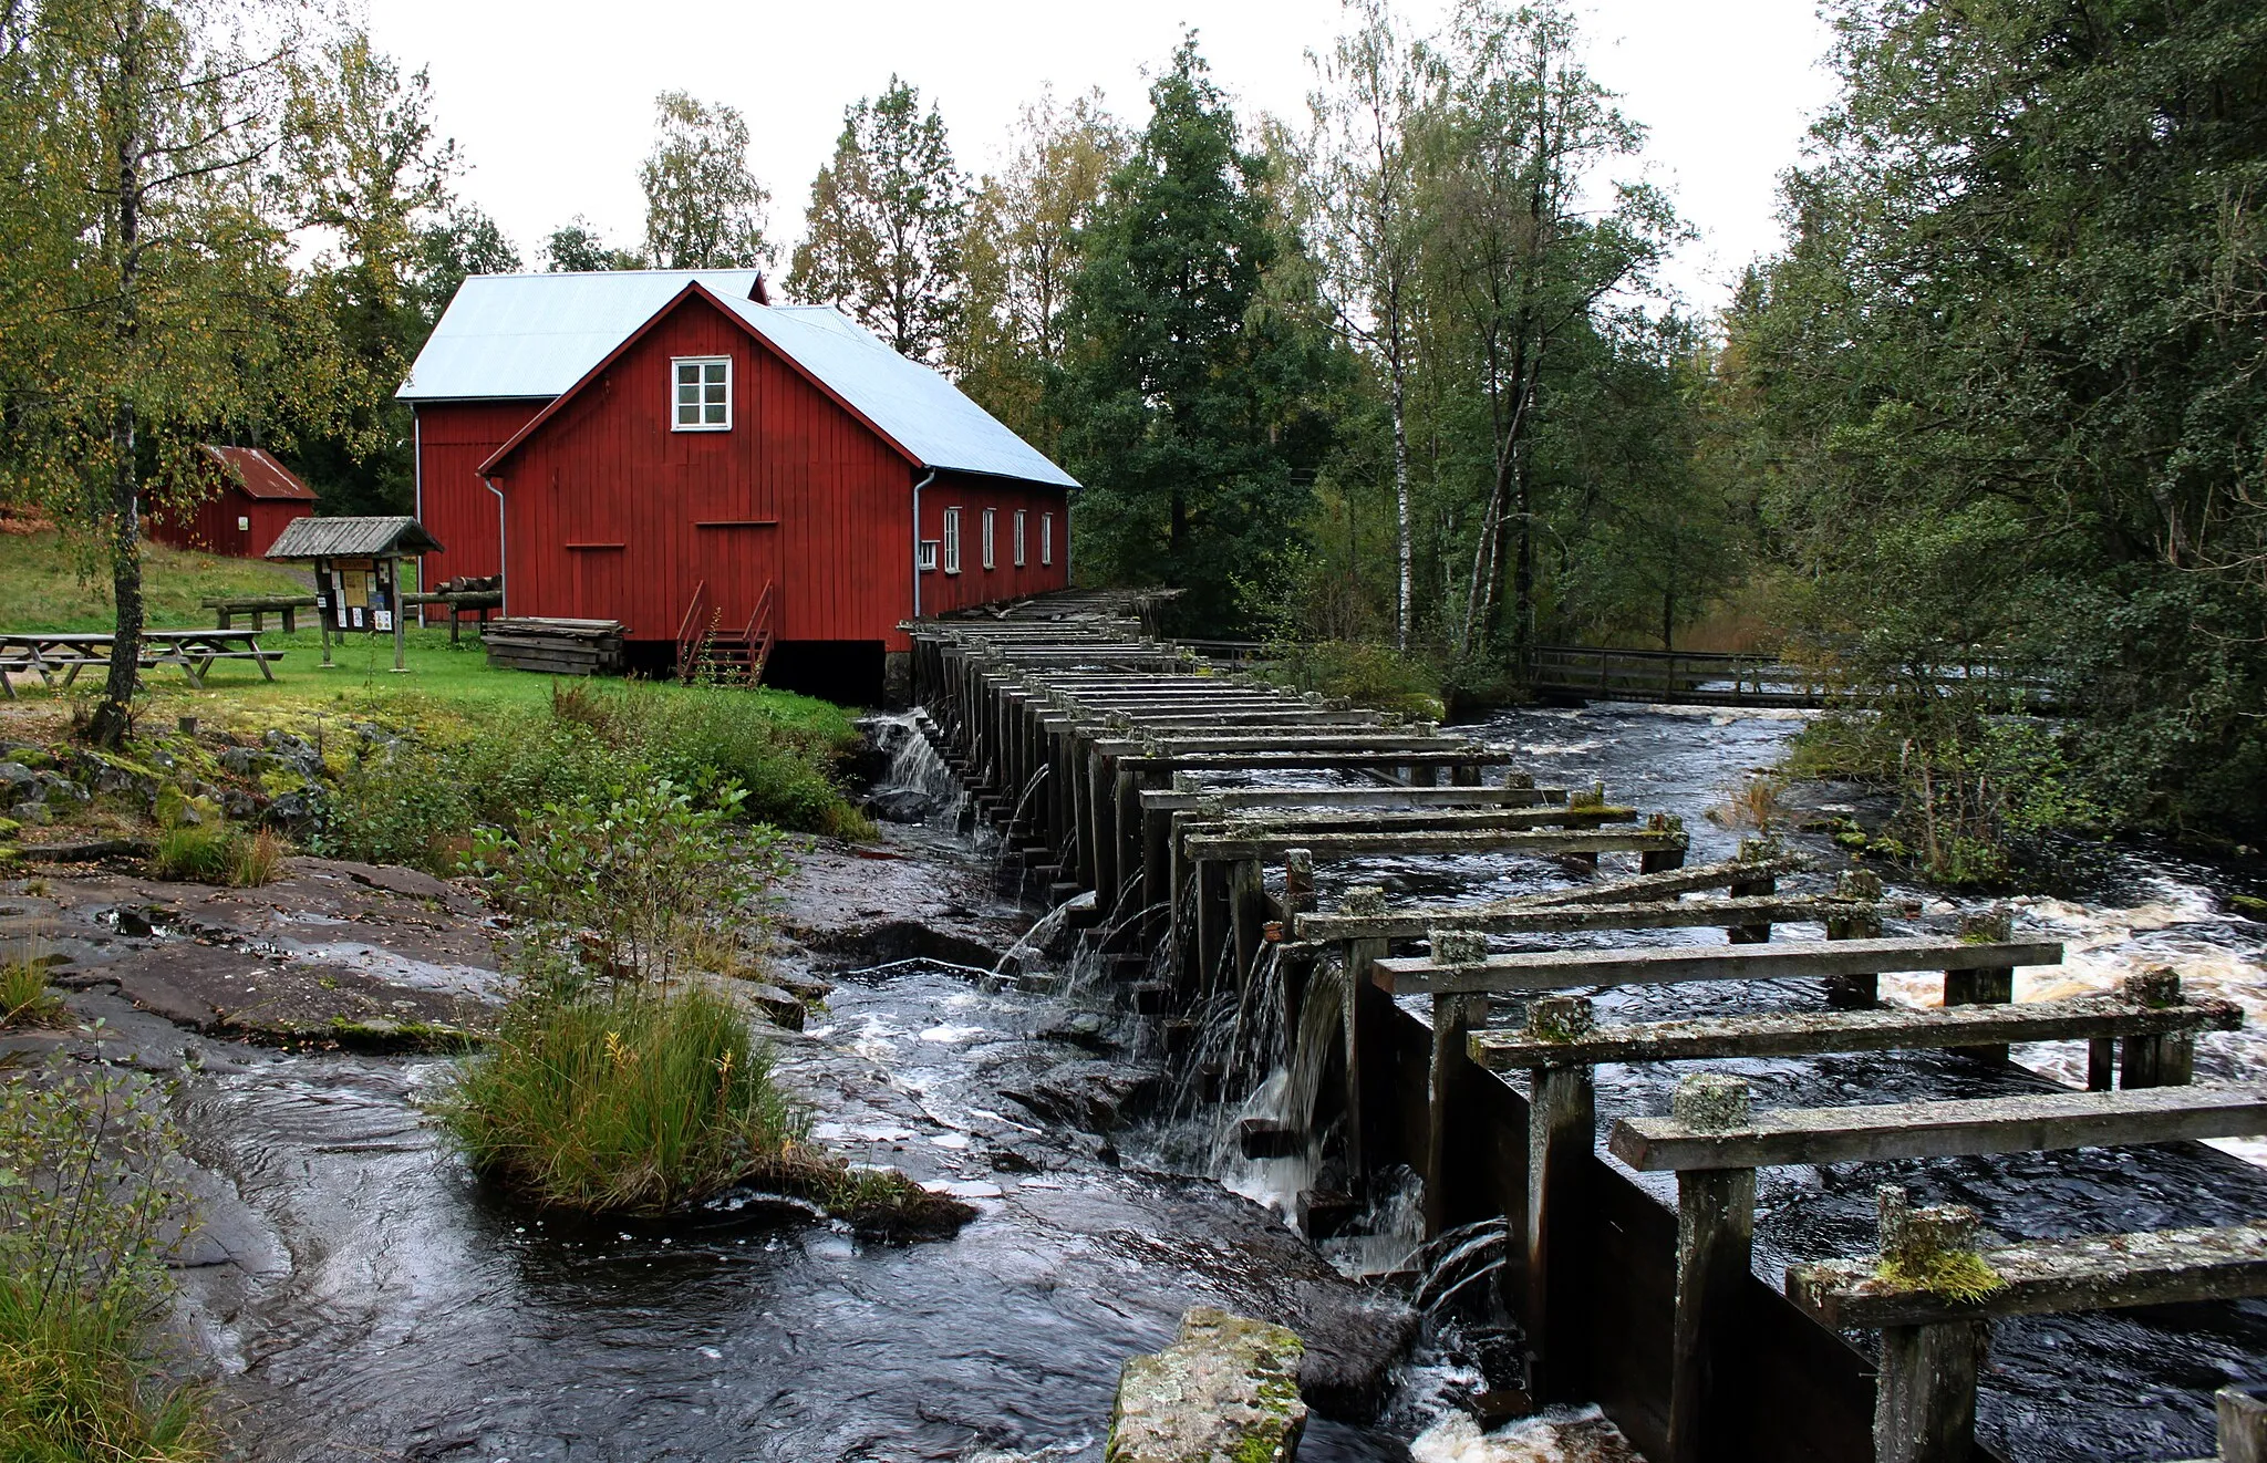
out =
{"type": "Polygon", "coordinates": [[[898,356],[841,310],[748,299],[755,270],[476,274],[433,326],[401,396],[560,396],[696,279],[923,467],[1077,487],[959,387],[898,356]]]}

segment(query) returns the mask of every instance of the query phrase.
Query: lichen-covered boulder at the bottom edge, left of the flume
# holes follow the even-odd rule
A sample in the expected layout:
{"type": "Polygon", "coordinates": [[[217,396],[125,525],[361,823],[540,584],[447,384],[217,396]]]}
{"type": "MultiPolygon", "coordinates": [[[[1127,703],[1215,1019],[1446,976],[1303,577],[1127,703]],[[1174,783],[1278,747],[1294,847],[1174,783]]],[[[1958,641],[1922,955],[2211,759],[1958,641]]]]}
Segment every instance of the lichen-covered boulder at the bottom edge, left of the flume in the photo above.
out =
{"type": "Polygon", "coordinates": [[[1292,1332],[1197,1307],[1181,1338],[1118,1377],[1104,1463],[1288,1463],[1306,1402],[1292,1332]]]}

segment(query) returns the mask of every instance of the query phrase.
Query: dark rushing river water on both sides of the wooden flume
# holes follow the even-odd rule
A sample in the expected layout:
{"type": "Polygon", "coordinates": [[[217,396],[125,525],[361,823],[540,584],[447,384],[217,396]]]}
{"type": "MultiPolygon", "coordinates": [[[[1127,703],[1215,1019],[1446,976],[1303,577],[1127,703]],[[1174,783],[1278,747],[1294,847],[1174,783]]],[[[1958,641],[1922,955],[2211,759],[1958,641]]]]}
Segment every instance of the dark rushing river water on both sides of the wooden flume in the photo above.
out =
{"type": "MultiPolygon", "coordinates": [[[[1614,802],[1682,813],[1700,861],[1741,836],[1707,811],[1771,765],[1795,725],[1589,709],[1501,713],[1485,729],[1519,743],[1544,784],[1596,779],[1614,802]]],[[[1825,838],[1795,842],[1841,856],[1825,838]]],[[[988,858],[939,829],[900,847],[961,872],[988,858]]],[[[1385,883],[1396,899],[1480,899],[1557,870],[1421,858],[1324,874],[1328,906],[1351,883],[1385,883]]],[[[2065,888],[2015,901],[2020,929],[2070,947],[2065,967],[2022,972],[2018,996],[2099,990],[2170,962],[2192,990],[2260,1019],[2267,926],[2224,913],[2233,892],[2251,886],[2231,870],[2090,852],[2065,888]]],[[[1920,922],[1941,926],[1952,913],[1922,890],[1893,897],[1913,901],[1920,922]]],[[[1004,931],[1029,922],[997,895],[975,915],[1004,931]]],[[[193,1314],[222,1359],[240,1449],[263,1461],[1099,1458],[1118,1368],[1168,1343],[1188,1304],[1306,1316],[1362,1350],[1376,1320],[1367,1291],[1267,1207],[1310,1173],[1224,1160],[1186,1132],[1104,1137],[1113,1121],[1095,1119],[1095,1105],[1143,1101],[1140,1046],[1104,987],[1047,994],[939,960],[830,978],[827,1010],[807,1040],[782,1044],[782,1064],[825,1092],[818,1137],[979,1207],[952,1241],[864,1246],[825,1223],[782,1223],[766,1203],[651,1225],[540,1221],[474,1182],[419,1121],[440,1062],[240,1049],[215,1060],[184,1119],[218,1180],[234,1264],[193,1277],[193,1314]]],[[[1929,1001],[1931,985],[1888,983],[1886,994],[1929,1001]]],[[[1601,1015],[1734,1010],[1752,996],[1619,992],[1601,1015]]],[[[2208,1037],[2197,1076],[2260,1076],[2262,1042],[2256,1028],[2208,1037]]],[[[2056,1049],[2018,1049],[2018,1060],[2065,1080],[2072,1062],[2083,1069],[2083,1053],[2056,1049]]],[[[1739,1067],[1761,1105],[1965,1096],[2027,1080],[1929,1055],[1739,1067]]],[[[1664,1110],[1671,1076],[1601,1069],[1601,1119],[1664,1110]]],[[[1199,1114],[1192,1128],[1215,1123],[1199,1114]]],[[[2006,1234],[2070,1234],[2258,1218],[2267,1171],[2242,1157],[2158,1148],[1895,1171],[1916,1203],[1963,1198],[2006,1234]]],[[[1757,1270],[1868,1250],[1875,1182],[1873,1169],[1771,1171],[1757,1270]]],[[[1369,1248],[1333,1248],[1342,1268],[1406,1259],[1394,1216],[1374,1227],[1387,1232],[1369,1248]]],[[[1512,1440],[1444,1427],[1446,1400],[1474,1384],[1458,1348],[1451,1332],[1421,1336],[1383,1422],[1315,1422],[1299,1456],[1410,1458],[1410,1440],[1424,1463],[1616,1456],[1585,1424],[1512,1440]]],[[[2002,1323],[1981,1431],[2027,1463],[2204,1456],[2208,1397],[2228,1377],[2267,1377],[2267,1307],[2002,1323]]]]}

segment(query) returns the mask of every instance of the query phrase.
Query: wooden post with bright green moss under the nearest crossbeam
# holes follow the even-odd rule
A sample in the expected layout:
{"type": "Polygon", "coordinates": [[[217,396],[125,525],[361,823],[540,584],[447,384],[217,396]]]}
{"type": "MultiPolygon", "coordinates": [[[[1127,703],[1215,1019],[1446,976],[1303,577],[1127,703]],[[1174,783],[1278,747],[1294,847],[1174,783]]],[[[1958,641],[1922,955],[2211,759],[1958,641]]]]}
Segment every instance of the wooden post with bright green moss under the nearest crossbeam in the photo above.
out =
{"type": "MultiPolygon", "coordinates": [[[[1875,1189],[1882,1264],[1927,1273],[1945,1252],[1975,1250],[1977,1212],[1965,1205],[1913,1209],[1904,1189],[1875,1189]]],[[[1968,1463],[1977,1434],[1977,1372],[1990,1345],[1988,1320],[1882,1327],[1882,1368],[1873,1404],[1877,1463],[1968,1463]]]]}

